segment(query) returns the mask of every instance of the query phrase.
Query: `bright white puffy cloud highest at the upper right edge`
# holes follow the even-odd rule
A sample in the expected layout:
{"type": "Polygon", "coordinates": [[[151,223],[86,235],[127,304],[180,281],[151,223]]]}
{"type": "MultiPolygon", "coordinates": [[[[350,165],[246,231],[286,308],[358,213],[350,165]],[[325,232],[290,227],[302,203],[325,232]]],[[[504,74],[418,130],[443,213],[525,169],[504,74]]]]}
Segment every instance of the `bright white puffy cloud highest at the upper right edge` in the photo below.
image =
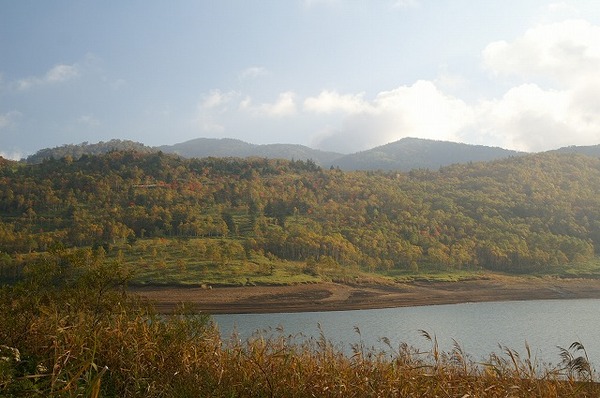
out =
{"type": "Polygon", "coordinates": [[[600,70],[600,26],[582,19],[540,24],[510,43],[490,43],[483,60],[496,75],[551,78],[563,85],[595,78],[600,70]]]}

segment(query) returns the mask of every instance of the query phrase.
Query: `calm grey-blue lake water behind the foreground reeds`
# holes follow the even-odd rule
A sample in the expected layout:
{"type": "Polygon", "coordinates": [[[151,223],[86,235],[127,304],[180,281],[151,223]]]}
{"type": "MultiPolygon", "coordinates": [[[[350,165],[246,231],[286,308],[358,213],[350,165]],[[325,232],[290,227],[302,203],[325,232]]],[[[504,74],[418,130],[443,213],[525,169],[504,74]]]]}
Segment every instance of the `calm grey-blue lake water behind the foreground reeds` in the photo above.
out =
{"type": "Polygon", "coordinates": [[[257,331],[277,335],[301,333],[304,338],[325,337],[346,352],[361,339],[367,347],[385,349],[387,337],[397,348],[402,342],[429,350],[420,330],[436,335],[440,348],[450,351],[456,340],[473,360],[501,353],[499,344],[526,354],[532,352],[544,362],[560,362],[557,346],[568,348],[581,342],[594,364],[600,363],[600,300],[535,300],[465,303],[377,310],[305,312],[277,314],[214,315],[224,338],[237,331],[246,339],[257,331]],[[360,330],[360,335],[355,331],[360,330]]]}

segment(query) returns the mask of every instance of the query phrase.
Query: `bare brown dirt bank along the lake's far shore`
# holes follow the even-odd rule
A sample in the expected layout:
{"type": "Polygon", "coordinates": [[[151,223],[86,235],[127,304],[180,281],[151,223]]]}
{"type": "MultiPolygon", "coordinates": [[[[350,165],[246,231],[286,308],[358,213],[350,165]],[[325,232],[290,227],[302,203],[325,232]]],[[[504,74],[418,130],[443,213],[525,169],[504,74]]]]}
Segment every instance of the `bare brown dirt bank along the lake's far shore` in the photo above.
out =
{"type": "Polygon", "coordinates": [[[182,302],[211,314],[341,311],[464,302],[600,298],[600,280],[491,278],[396,284],[318,283],[203,289],[148,286],[131,292],[171,312],[182,302]]]}

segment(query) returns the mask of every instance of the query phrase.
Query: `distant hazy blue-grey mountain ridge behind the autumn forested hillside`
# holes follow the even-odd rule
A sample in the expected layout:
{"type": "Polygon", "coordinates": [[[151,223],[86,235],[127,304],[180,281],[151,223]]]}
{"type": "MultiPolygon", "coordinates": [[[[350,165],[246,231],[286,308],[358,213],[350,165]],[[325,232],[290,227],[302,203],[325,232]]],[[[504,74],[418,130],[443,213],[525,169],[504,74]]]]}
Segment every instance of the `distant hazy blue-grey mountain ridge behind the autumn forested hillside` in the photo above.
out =
{"type": "MultiPolygon", "coordinates": [[[[138,151],[172,153],[184,158],[205,157],[262,157],[270,159],[311,160],[321,167],[342,170],[410,171],[413,169],[437,169],[451,164],[485,162],[523,156],[519,152],[500,147],[473,145],[451,141],[405,137],[385,145],[364,151],[342,154],[313,149],[299,144],[251,144],[234,138],[196,138],[173,145],[157,147],[129,140],[110,140],[79,145],[63,145],[46,148],[24,159],[27,163],[40,163],[48,158],[94,155],[111,151],[138,151]]],[[[600,157],[600,145],[568,146],[545,152],[581,153],[600,157]]]]}

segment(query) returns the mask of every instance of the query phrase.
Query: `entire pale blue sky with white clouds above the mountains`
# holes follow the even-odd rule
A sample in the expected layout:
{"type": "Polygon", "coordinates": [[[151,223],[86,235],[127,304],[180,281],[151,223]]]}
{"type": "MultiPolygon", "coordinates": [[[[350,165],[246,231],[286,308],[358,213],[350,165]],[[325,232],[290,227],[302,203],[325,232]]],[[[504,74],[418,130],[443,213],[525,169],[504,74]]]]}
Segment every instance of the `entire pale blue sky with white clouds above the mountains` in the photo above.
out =
{"type": "Polygon", "coordinates": [[[600,3],[0,0],[0,156],[200,137],[600,144],[600,3]]]}

